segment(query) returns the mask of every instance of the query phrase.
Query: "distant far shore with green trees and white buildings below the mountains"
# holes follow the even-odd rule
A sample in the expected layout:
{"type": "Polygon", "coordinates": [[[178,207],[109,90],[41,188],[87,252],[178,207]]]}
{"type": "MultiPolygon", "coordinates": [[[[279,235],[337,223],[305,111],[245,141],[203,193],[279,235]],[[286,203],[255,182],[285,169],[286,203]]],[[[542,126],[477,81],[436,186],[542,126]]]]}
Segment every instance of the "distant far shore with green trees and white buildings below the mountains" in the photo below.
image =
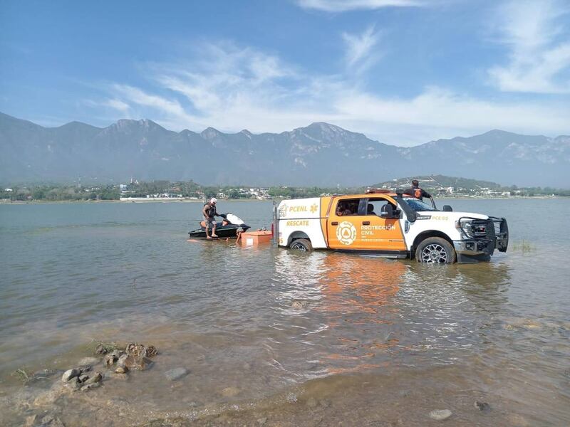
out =
{"type": "MultiPolygon", "coordinates": [[[[570,189],[550,187],[500,186],[487,181],[463,180],[462,186],[447,185],[447,181],[425,179],[420,181],[438,199],[510,199],[510,198],[552,198],[570,196],[570,189]],[[437,182],[437,186],[432,184],[437,182]],[[439,182],[444,182],[443,185],[439,182]]],[[[460,179],[455,179],[454,182],[460,179]]],[[[372,188],[406,188],[406,179],[394,179],[372,188]]],[[[101,202],[101,201],[202,201],[210,197],[227,200],[271,200],[318,197],[331,194],[364,192],[369,187],[318,187],[318,186],[203,186],[194,181],[133,181],[130,184],[14,184],[0,188],[1,203],[38,202],[101,202]]]]}

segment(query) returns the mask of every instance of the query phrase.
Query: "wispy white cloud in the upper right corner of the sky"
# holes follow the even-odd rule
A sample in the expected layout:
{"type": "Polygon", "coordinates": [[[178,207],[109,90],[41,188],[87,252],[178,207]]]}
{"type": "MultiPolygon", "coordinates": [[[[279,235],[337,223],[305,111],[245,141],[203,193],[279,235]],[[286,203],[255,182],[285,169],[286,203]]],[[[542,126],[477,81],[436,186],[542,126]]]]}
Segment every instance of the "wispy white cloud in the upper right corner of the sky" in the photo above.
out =
{"type": "Polygon", "coordinates": [[[570,37],[559,25],[568,27],[560,19],[568,12],[555,0],[509,1],[497,9],[494,31],[510,52],[507,65],[489,69],[492,83],[506,92],[570,93],[570,37]]]}

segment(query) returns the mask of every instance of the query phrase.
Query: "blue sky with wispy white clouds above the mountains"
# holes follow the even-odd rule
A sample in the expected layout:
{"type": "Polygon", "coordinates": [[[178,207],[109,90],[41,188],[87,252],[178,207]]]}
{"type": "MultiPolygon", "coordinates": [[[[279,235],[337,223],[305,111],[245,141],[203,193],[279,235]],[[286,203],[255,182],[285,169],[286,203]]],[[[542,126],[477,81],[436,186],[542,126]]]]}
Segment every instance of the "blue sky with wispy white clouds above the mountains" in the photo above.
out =
{"type": "Polygon", "coordinates": [[[0,0],[0,112],[413,146],[570,135],[570,0],[0,0]]]}

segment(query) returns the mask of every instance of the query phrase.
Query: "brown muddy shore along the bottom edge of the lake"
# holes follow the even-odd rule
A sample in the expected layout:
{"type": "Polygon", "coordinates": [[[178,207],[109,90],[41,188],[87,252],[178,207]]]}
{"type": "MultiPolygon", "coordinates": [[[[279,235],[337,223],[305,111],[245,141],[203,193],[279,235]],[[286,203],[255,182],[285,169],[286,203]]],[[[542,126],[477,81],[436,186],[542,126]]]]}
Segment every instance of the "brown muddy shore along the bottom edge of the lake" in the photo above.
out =
{"type": "MultiPolygon", "coordinates": [[[[431,371],[398,369],[390,375],[338,375],[290,386],[264,399],[227,399],[197,403],[185,409],[145,408],[135,403],[138,391],[120,396],[113,381],[88,393],[56,383],[48,389],[22,387],[0,395],[2,425],[23,426],[439,426],[434,410],[451,412],[453,426],[556,425],[532,408],[491,391],[493,381],[477,384],[462,367],[431,371]],[[446,381],[449,378],[454,381],[446,381]],[[225,400],[225,401],[223,401],[225,400]],[[487,411],[475,402],[489,402],[487,411]]],[[[121,381],[121,380],[115,380],[121,381]]],[[[152,384],[148,384],[152,386],[152,384]]],[[[172,387],[176,388],[175,383],[172,387]]],[[[562,411],[559,408],[559,411],[562,411]]]]}

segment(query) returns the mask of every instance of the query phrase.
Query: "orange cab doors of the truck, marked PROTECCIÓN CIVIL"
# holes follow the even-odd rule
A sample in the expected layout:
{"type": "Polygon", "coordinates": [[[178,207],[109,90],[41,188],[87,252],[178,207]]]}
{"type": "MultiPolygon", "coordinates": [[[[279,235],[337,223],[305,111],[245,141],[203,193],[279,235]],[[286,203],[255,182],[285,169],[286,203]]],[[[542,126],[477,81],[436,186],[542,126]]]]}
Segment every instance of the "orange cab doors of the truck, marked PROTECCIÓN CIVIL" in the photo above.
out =
{"type": "Polygon", "coordinates": [[[398,218],[382,218],[382,206],[395,201],[388,196],[360,199],[339,198],[328,217],[328,246],[346,251],[366,251],[382,255],[405,256],[406,246],[398,218]],[[358,205],[356,214],[350,206],[358,205]]]}

